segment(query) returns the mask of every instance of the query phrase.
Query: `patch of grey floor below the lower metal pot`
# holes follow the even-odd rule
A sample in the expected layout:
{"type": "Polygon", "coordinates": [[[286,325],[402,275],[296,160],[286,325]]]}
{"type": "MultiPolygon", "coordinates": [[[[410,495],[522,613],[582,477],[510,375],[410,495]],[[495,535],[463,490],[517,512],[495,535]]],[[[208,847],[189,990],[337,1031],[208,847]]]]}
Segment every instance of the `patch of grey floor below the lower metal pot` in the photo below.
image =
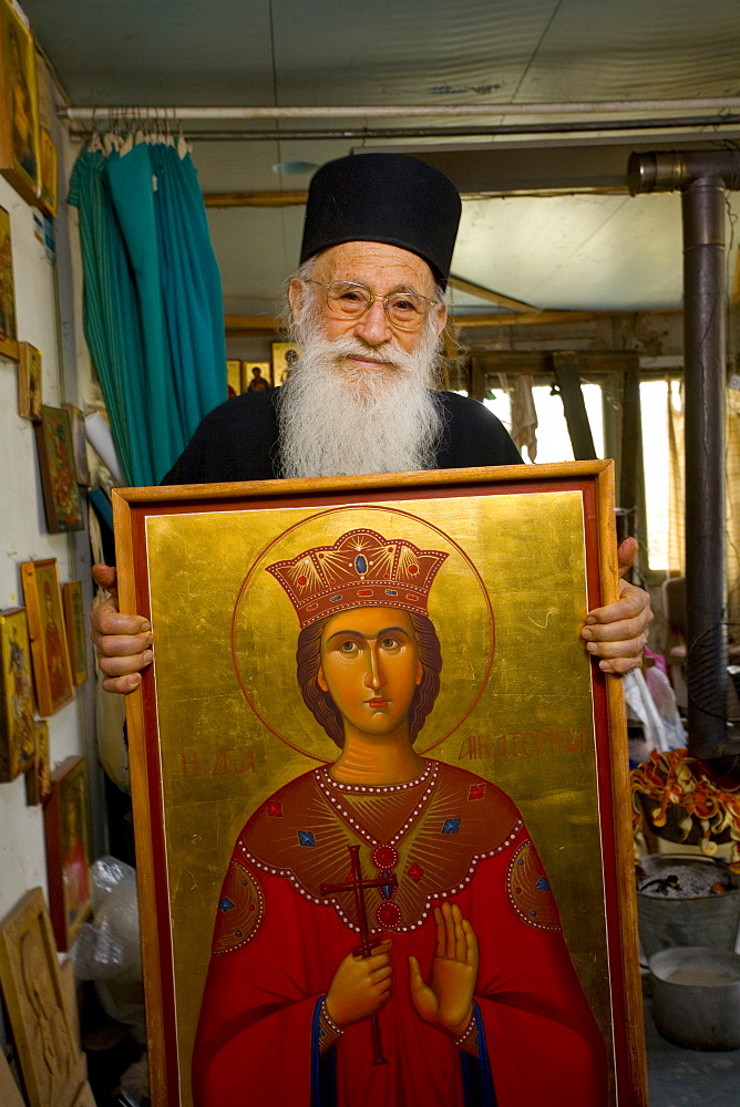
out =
{"type": "Polygon", "coordinates": [[[740,1107],[740,1049],[682,1049],[658,1034],[645,994],[650,1107],[740,1107]]]}

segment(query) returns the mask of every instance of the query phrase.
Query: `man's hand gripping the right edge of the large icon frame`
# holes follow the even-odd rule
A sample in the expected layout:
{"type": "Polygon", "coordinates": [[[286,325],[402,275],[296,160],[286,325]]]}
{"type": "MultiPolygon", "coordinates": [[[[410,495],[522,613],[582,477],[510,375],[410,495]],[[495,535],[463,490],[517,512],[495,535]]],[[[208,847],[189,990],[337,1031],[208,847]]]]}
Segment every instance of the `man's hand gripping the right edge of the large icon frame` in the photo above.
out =
{"type": "MultiPolygon", "coordinates": [[[[617,551],[620,577],[631,568],[636,555],[637,542],[625,538],[617,551]]],[[[649,593],[620,580],[619,599],[589,611],[580,637],[588,652],[602,659],[598,668],[605,673],[627,673],[643,663],[651,622],[649,593]]]]}

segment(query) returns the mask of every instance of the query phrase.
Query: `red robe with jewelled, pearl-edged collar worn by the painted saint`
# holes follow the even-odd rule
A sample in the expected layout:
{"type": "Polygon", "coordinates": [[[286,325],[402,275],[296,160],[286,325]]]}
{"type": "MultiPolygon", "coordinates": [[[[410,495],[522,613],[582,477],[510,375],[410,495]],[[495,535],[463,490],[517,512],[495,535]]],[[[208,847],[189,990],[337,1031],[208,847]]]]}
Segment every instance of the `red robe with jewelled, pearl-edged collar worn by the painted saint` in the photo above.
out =
{"type": "Polygon", "coordinates": [[[248,820],[216,919],[193,1058],[196,1107],[605,1107],[604,1039],[561,931],[536,849],[495,785],[430,761],[410,785],[360,788],[327,768],[298,777],[248,820]],[[366,879],[392,870],[387,898],[364,892],[371,931],[393,938],[393,989],[380,1011],[387,1065],[368,1022],[330,1047],[333,1089],[318,1074],[318,1020],[342,959],[357,948],[348,846],[366,879]],[[417,1014],[409,954],[429,979],[433,908],[455,902],[475,931],[481,1063],[417,1014]],[[461,1063],[462,1061],[462,1063],[461,1063]],[[471,1083],[471,1062],[473,1065],[471,1083]]]}

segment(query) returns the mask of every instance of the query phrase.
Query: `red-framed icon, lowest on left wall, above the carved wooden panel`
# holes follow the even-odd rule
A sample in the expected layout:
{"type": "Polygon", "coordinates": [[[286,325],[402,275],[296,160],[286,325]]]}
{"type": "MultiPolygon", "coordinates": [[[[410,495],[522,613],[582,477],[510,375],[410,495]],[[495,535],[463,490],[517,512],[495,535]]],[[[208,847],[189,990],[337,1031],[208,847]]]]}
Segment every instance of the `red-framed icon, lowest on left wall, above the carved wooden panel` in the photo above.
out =
{"type": "Polygon", "coordinates": [[[44,807],[49,910],[60,950],[69,950],[92,911],[84,757],[68,757],[51,774],[44,807]]]}

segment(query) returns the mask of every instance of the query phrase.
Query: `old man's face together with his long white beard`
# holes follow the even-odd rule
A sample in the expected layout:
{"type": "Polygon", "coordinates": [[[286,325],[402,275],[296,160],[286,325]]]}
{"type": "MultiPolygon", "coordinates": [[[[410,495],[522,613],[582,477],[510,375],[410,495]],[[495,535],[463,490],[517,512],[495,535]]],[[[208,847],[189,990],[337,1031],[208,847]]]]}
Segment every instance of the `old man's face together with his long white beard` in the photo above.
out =
{"type": "Polygon", "coordinates": [[[378,242],[332,247],[314,261],[308,277],[291,280],[302,355],[280,396],[285,476],[403,473],[434,465],[443,416],[432,387],[446,311],[434,303],[419,328],[402,330],[386,315],[382,297],[389,292],[403,299],[415,292],[430,301],[436,294],[421,258],[378,242]],[[332,280],[353,281],[373,293],[364,314],[332,314],[321,287],[332,280]]]}

